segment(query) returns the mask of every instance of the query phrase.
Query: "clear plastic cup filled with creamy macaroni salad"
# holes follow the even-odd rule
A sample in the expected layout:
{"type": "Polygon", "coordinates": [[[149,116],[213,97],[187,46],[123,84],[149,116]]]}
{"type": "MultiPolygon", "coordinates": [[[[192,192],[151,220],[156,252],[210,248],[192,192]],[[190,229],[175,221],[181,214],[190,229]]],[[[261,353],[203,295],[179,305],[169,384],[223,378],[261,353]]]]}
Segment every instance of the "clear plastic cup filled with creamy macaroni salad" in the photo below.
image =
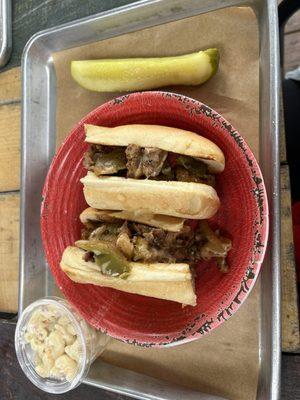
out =
{"type": "Polygon", "coordinates": [[[108,341],[107,335],[91,327],[59,297],[45,297],[30,304],[19,317],[15,331],[16,354],[25,375],[38,388],[57,394],[82,382],[108,341]]]}

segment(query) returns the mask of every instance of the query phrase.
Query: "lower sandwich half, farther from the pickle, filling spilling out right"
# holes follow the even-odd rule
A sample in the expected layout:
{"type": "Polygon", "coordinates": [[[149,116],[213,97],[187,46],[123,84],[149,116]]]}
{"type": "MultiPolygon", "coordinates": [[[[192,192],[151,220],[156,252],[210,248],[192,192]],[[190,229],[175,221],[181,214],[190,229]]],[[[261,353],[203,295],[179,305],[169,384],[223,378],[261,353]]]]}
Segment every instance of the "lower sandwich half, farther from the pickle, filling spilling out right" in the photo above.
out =
{"type": "Polygon", "coordinates": [[[214,258],[222,271],[231,241],[207,221],[142,211],[87,208],[81,240],[65,249],[62,270],[75,282],[184,305],[196,304],[193,266],[214,258]]]}

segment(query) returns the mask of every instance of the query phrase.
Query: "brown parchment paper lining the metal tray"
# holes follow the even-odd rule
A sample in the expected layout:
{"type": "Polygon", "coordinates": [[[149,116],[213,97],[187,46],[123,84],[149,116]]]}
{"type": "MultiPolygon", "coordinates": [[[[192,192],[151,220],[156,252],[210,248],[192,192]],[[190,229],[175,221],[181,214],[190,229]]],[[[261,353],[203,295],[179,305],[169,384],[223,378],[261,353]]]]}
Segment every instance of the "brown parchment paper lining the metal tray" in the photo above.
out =
{"type": "MultiPolygon", "coordinates": [[[[120,93],[95,93],[71,78],[70,61],[167,56],[208,47],[220,50],[217,74],[202,86],[167,90],[198,99],[239,130],[258,156],[258,26],[250,8],[187,18],[53,55],[57,78],[57,146],[72,126],[120,93]]],[[[112,340],[102,358],[117,366],[232,400],[256,398],[259,373],[259,283],[228,322],[198,341],[144,349],[112,340]]]]}

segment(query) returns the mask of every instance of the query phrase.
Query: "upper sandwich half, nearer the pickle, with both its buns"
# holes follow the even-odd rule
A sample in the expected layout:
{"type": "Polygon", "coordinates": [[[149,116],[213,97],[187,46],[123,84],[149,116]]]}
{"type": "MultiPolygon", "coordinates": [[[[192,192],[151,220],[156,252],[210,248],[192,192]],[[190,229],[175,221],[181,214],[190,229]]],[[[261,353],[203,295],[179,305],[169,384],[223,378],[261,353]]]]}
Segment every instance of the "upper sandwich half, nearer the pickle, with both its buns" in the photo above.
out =
{"type": "Polygon", "coordinates": [[[159,125],[85,125],[90,144],[81,179],[90,207],[211,218],[220,200],[215,174],[224,154],[194,132],[159,125]]]}

